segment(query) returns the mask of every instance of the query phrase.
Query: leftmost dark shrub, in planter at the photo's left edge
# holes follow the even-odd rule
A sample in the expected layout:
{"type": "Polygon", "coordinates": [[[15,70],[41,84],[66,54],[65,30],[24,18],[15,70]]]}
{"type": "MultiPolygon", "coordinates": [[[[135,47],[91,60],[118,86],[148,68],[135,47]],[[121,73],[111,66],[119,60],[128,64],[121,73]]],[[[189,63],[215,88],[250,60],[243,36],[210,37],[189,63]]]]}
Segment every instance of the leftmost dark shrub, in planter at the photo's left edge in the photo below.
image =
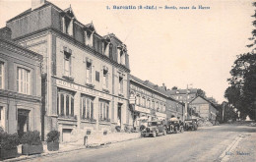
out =
{"type": "Polygon", "coordinates": [[[0,133],[0,149],[12,149],[16,148],[20,143],[18,134],[7,134],[5,132],[0,133]]]}

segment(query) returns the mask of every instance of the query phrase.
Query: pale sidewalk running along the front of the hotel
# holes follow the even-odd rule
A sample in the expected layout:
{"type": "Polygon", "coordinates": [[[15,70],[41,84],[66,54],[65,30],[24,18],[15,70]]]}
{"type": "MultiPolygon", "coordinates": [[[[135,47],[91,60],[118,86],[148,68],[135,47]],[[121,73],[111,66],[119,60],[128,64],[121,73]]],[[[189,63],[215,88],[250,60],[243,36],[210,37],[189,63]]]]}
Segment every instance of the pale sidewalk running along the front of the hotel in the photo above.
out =
{"type": "MultiPolygon", "coordinates": [[[[58,154],[63,152],[71,152],[80,149],[86,149],[88,147],[96,147],[99,145],[105,145],[120,141],[131,140],[135,138],[139,138],[141,135],[139,133],[127,134],[127,133],[113,133],[108,135],[88,135],[87,144],[84,145],[84,139],[80,139],[76,142],[68,142],[68,143],[60,143],[58,151],[48,151],[47,144],[43,143],[43,153],[35,154],[35,155],[21,155],[17,158],[6,159],[4,161],[11,162],[11,161],[21,161],[32,159],[40,156],[48,156],[52,154],[58,154]]],[[[21,153],[21,145],[18,146],[18,153],[21,153]]]]}

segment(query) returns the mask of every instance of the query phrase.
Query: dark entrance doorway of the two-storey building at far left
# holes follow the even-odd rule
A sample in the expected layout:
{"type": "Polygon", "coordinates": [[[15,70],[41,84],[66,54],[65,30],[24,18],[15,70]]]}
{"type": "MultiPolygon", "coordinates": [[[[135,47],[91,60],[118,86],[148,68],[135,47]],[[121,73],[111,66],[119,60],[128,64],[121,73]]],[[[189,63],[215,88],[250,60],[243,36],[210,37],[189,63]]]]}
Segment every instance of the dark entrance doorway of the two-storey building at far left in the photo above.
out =
{"type": "Polygon", "coordinates": [[[29,114],[30,110],[18,110],[18,125],[17,132],[20,137],[29,131],[29,114]]]}

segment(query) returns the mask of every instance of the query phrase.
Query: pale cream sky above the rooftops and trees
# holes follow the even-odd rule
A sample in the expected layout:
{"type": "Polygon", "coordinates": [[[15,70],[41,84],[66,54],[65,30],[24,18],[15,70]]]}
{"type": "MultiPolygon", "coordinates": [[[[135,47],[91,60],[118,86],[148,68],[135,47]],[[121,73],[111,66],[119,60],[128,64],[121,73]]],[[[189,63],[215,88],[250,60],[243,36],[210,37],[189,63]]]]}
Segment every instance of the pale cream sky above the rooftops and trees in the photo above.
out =
{"type": "MultiPolygon", "coordinates": [[[[77,20],[94,23],[100,35],[114,33],[126,45],[131,74],[167,88],[201,88],[225,100],[236,55],[249,52],[251,0],[49,0],[70,5],[77,20]],[[158,10],[114,10],[113,6],[157,6],[158,10]],[[198,9],[198,6],[210,9],[198,9]],[[106,6],[110,10],[106,9],[106,6]],[[164,10],[175,6],[177,10],[164,10]],[[192,10],[195,6],[197,9],[192,10]],[[181,10],[179,7],[189,7],[181,10]]],[[[0,27],[31,8],[31,0],[0,0],[0,27]]]]}

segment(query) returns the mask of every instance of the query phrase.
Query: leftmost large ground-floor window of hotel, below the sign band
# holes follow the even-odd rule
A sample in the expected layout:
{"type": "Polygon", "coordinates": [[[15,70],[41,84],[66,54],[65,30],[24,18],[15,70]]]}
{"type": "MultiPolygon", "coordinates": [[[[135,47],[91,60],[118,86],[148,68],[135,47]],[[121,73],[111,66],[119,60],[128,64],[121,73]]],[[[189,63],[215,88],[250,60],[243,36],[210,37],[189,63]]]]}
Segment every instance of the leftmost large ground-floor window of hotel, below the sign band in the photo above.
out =
{"type": "Polygon", "coordinates": [[[57,114],[61,117],[74,117],[74,97],[72,94],[59,92],[57,97],[57,114]]]}

